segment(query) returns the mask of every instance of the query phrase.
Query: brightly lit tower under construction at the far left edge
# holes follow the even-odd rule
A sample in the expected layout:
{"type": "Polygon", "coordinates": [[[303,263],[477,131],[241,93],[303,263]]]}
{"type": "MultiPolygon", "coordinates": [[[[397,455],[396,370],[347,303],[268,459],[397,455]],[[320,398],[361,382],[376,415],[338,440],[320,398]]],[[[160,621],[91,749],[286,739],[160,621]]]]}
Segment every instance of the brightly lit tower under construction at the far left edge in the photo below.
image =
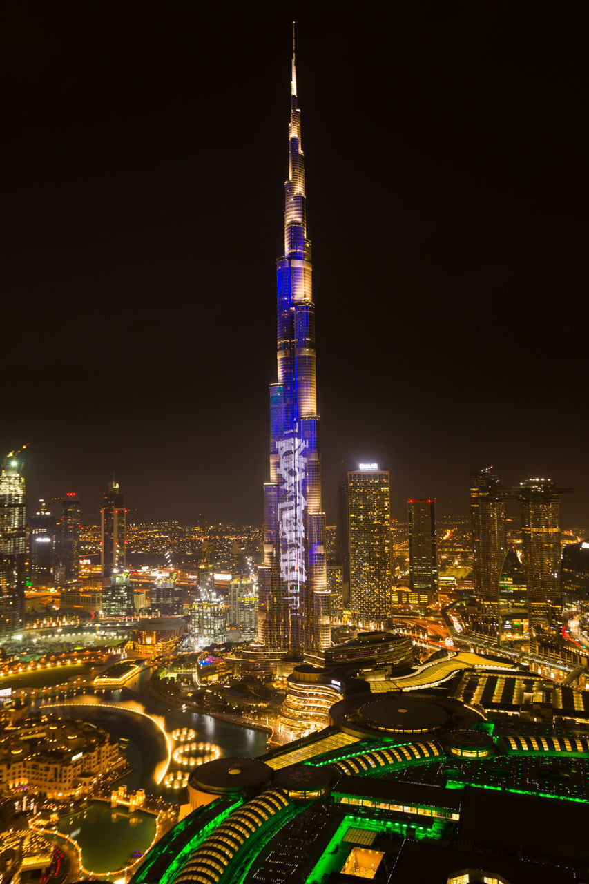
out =
{"type": "Polygon", "coordinates": [[[0,476],[0,636],[24,626],[27,584],[27,495],[22,457],[4,458],[0,476]]]}

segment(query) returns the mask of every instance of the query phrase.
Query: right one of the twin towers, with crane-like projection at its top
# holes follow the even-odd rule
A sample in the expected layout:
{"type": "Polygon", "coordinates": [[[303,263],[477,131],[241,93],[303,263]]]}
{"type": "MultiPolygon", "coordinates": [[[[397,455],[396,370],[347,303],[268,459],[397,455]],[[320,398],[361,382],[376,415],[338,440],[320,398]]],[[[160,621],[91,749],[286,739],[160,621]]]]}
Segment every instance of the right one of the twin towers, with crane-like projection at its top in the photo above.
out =
{"type": "Polygon", "coordinates": [[[570,488],[557,488],[552,479],[526,479],[517,487],[522,507],[525,583],[530,616],[552,621],[562,605],[561,499],[570,488]]]}

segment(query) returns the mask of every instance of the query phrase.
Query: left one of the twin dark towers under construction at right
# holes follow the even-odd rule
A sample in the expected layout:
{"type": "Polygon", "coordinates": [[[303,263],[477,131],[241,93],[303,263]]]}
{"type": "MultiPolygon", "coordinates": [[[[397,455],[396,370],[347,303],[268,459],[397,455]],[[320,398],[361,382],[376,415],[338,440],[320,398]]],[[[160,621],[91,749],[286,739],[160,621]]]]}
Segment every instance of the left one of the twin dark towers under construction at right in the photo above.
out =
{"type": "Polygon", "coordinates": [[[470,516],[474,546],[475,595],[486,605],[497,604],[501,565],[507,549],[506,489],[493,467],[470,473],[470,516]]]}

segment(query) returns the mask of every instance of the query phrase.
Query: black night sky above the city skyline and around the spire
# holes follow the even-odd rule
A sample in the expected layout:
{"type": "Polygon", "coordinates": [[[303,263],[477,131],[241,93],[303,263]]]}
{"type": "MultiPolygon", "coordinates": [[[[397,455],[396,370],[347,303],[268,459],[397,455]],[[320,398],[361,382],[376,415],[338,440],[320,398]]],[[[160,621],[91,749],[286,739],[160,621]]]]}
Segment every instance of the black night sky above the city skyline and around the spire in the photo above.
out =
{"type": "Polygon", "coordinates": [[[261,521],[295,15],[328,520],[370,460],[395,516],[493,463],[588,524],[585,3],[208,5],[3,5],[31,502],[93,520],[114,469],[137,518],[261,521]]]}

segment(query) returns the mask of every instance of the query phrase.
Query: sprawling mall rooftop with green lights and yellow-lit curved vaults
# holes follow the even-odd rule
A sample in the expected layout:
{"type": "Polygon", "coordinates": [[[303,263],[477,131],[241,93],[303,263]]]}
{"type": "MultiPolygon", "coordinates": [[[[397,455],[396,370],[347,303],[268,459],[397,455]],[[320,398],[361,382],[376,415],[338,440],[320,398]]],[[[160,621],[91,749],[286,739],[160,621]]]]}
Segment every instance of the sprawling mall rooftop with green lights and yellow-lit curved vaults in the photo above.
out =
{"type": "MultiPolygon", "coordinates": [[[[499,667],[481,668],[477,677],[498,672],[503,677],[499,667]]],[[[268,776],[241,792],[227,787],[225,796],[219,781],[214,800],[150,851],[134,884],[366,877],[399,884],[409,881],[411,862],[421,875],[428,870],[414,880],[432,884],[470,866],[489,878],[502,869],[511,884],[589,880],[589,855],[576,834],[589,824],[583,725],[494,721],[455,691],[454,680],[447,690],[367,693],[336,704],[329,728],[261,759],[268,776]],[[405,715],[419,733],[399,732],[405,715]],[[389,722],[391,734],[381,729],[389,722]]],[[[200,782],[203,789],[206,776],[200,782]]],[[[198,800],[209,798],[201,791],[198,800]]]]}

